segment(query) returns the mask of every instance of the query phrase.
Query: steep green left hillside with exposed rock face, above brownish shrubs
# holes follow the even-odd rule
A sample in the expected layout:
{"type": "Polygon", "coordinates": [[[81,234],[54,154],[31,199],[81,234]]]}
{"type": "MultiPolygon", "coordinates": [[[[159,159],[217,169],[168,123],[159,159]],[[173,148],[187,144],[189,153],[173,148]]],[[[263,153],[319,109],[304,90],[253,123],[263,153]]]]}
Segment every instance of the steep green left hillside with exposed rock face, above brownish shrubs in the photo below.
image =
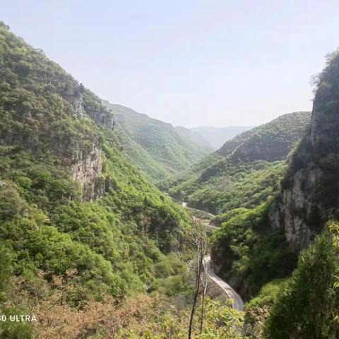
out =
{"type": "MultiPolygon", "coordinates": [[[[0,74],[0,251],[19,290],[3,304],[0,286],[1,314],[20,302],[42,311],[33,301],[54,292],[71,309],[162,288],[182,270],[166,255],[188,216],[121,151],[112,112],[4,23],[0,74]]],[[[1,338],[30,338],[3,326],[1,338]]]]}

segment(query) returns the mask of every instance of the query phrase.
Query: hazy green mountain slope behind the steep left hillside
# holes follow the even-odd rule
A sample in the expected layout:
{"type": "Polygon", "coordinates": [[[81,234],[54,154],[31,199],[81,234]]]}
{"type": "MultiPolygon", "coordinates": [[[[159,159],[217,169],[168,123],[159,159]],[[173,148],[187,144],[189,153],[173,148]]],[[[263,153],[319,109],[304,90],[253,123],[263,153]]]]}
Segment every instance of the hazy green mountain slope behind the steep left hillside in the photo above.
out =
{"type": "Polygon", "coordinates": [[[126,136],[129,137],[126,153],[150,179],[165,179],[201,160],[211,151],[202,138],[186,133],[183,128],[174,128],[172,124],[152,119],[122,105],[110,104],[105,100],[103,103],[117,119],[124,132],[124,140],[126,136]]]}

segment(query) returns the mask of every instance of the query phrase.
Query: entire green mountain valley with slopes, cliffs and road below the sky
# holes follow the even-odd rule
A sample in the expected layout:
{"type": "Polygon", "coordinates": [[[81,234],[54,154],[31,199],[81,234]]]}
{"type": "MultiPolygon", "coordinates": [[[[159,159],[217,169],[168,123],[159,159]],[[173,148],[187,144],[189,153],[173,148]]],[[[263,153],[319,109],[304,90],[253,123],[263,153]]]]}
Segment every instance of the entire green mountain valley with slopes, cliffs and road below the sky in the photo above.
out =
{"type": "Polygon", "coordinates": [[[36,319],[1,339],[339,338],[338,51],[253,128],[112,104],[3,22],[0,76],[0,315],[36,319]]]}

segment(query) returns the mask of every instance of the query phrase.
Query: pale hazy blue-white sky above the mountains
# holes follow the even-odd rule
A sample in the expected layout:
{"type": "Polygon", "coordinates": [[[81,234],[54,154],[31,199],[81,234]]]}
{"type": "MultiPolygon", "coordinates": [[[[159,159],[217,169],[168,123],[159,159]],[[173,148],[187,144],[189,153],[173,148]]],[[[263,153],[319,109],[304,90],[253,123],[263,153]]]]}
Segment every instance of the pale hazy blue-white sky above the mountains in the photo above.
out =
{"type": "Polygon", "coordinates": [[[339,2],[0,0],[1,20],[97,95],[187,127],[311,109],[339,2]]]}

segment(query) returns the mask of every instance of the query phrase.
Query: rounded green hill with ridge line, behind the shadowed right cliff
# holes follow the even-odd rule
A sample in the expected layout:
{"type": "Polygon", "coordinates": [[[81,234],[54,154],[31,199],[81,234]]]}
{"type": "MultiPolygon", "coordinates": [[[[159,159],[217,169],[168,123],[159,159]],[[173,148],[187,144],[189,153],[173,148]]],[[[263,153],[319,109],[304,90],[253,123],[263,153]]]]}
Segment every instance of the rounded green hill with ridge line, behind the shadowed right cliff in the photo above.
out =
{"type": "Polygon", "coordinates": [[[177,177],[169,194],[211,213],[258,205],[279,189],[287,153],[309,120],[295,112],[239,134],[177,177]]]}

